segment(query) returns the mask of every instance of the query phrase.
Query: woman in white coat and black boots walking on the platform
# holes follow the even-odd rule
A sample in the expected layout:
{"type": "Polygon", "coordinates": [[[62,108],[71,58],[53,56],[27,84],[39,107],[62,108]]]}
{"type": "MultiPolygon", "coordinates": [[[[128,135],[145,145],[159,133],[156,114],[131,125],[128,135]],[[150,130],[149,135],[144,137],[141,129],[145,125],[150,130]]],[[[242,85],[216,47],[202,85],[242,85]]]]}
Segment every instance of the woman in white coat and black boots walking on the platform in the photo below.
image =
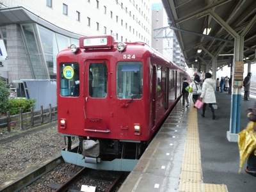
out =
{"type": "Polygon", "coordinates": [[[216,97],[215,97],[216,81],[211,77],[212,77],[212,74],[210,73],[205,74],[205,80],[202,86],[202,93],[200,95],[200,100],[204,102],[202,117],[205,117],[206,105],[209,104],[209,107],[211,108],[211,111],[212,111],[212,120],[214,120],[216,118],[216,115],[214,113],[214,108],[212,107],[212,103],[216,102],[216,97]]]}

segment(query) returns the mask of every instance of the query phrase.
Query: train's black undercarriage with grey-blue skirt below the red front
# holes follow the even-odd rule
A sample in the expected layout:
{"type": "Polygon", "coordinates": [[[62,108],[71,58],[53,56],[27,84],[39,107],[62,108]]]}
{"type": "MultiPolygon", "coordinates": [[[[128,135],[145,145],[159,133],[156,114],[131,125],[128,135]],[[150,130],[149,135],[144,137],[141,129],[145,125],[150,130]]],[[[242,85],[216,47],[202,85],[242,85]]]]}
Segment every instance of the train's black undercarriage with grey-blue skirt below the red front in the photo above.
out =
{"type": "Polygon", "coordinates": [[[131,171],[148,146],[147,141],[109,140],[79,137],[72,148],[72,137],[67,137],[67,148],[61,151],[67,163],[99,170],[131,171]]]}

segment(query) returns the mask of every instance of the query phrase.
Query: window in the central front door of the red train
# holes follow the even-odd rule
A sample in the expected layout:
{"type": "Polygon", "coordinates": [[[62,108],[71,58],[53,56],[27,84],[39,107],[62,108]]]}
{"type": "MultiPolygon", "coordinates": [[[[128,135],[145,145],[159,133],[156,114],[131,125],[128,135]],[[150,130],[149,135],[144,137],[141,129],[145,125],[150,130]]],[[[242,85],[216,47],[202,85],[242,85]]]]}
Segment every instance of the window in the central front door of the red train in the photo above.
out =
{"type": "Polygon", "coordinates": [[[93,98],[107,97],[108,68],[106,63],[90,63],[88,75],[89,95],[93,98]]]}

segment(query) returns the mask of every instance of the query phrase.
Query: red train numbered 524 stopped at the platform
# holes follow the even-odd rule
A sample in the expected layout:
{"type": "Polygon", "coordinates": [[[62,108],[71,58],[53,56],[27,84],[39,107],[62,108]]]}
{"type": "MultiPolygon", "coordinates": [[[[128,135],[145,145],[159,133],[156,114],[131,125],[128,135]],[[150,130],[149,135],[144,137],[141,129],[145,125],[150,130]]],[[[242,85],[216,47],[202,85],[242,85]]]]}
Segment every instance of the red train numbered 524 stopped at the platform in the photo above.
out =
{"type": "Polygon", "coordinates": [[[141,42],[86,36],[57,56],[58,132],[68,163],[131,171],[189,75],[141,42]],[[79,145],[71,149],[72,137],[79,145]],[[66,138],[66,137],[65,137],[66,138]]]}

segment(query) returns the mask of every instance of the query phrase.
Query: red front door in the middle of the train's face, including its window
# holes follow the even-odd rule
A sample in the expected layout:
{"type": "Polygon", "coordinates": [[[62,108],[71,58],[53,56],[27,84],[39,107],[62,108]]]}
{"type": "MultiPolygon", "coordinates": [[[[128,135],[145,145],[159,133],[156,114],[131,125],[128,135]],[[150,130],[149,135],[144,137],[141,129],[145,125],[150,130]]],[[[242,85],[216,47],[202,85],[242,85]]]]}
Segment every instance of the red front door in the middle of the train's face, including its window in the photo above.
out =
{"type": "Polygon", "coordinates": [[[109,132],[108,61],[85,63],[85,131],[109,132]]]}

